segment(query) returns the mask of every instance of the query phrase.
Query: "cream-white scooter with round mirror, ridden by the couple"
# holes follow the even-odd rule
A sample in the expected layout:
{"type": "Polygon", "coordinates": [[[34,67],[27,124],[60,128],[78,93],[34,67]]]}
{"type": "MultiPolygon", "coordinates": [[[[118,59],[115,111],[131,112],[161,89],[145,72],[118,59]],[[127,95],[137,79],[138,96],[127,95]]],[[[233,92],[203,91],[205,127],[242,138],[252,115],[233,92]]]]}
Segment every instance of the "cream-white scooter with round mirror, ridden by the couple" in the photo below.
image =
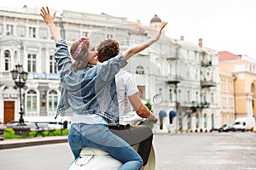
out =
{"type": "MultiPolygon", "coordinates": [[[[160,94],[154,95],[153,102],[154,106],[160,104],[162,101],[162,96],[160,94]]],[[[151,111],[154,109],[152,107],[151,111]]],[[[137,114],[135,114],[137,115],[137,114]]],[[[126,117],[125,122],[131,124],[132,126],[138,125],[143,121],[143,118],[140,116],[131,116],[126,117]]],[[[143,123],[147,124],[147,122],[143,123]]],[[[133,148],[137,150],[138,144],[134,145],[133,148]]],[[[84,147],[80,152],[79,158],[77,158],[71,166],[69,170],[117,170],[122,166],[122,163],[103,150],[99,150],[96,148],[84,147]]],[[[155,169],[155,155],[154,155],[154,147],[152,144],[150,155],[148,157],[148,163],[145,166],[146,170],[154,170],[155,169]]]]}

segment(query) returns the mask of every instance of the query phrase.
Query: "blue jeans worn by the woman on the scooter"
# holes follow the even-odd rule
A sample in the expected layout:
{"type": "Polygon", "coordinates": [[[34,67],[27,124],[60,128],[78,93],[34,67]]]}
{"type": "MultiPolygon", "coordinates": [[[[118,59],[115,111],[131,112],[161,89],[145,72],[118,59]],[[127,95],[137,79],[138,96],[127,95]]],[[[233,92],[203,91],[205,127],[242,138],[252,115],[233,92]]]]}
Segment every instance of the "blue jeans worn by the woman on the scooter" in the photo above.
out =
{"type": "Polygon", "coordinates": [[[137,170],[143,166],[143,160],[137,151],[110,132],[104,124],[73,124],[68,133],[68,144],[75,159],[84,147],[95,147],[121,161],[123,166],[119,170],[137,170]]]}

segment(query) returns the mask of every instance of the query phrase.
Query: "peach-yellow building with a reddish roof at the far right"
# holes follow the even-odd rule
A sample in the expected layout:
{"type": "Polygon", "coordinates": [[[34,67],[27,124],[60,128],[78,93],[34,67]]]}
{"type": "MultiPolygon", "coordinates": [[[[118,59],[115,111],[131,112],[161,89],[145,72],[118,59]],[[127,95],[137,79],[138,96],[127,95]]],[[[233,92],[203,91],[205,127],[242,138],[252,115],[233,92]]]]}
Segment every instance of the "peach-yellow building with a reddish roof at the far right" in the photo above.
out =
{"type": "Polygon", "coordinates": [[[247,55],[222,51],[219,52],[219,69],[230,72],[234,77],[235,115],[233,121],[240,116],[256,117],[256,60],[247,55]]]}

